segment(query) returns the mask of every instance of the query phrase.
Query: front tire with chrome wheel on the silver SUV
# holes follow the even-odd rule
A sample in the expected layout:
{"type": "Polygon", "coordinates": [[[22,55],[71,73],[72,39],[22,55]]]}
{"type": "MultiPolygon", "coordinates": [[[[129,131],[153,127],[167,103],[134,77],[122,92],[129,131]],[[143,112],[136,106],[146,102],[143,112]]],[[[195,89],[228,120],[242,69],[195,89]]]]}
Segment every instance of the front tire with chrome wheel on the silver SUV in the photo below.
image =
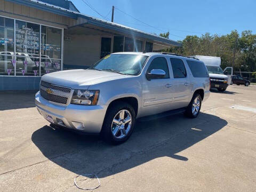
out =
{"type": "Polygon", "coordinates": [[[121,144],[131,136],[134,124],[133,107],[125,102],[115,103],[107,110],[101,130],[102,138],[114,145],[121,144]]]}

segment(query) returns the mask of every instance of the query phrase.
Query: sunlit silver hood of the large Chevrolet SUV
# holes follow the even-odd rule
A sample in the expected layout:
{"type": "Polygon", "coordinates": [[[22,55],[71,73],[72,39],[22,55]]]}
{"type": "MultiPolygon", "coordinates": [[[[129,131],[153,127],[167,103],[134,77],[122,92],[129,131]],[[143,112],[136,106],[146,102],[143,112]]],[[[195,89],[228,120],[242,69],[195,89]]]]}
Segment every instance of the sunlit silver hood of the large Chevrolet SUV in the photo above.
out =
{"type": "Polygon", "coordinates": [[[63,70],[42,76],[42,81],[70,87],[71,89],[87,89],[90,85],[111,81],[129,76],[111,71],[98,71],[91,69],[63,70]]]}

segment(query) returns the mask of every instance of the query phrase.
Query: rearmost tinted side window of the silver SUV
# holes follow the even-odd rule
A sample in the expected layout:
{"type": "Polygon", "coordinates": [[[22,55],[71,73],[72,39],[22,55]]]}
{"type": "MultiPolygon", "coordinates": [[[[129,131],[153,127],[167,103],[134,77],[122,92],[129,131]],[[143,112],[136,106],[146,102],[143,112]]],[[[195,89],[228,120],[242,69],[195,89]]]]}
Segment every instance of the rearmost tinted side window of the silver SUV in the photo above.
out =
{"type": "Polygon", "coordinates": [[[187,60],[187,63],[194,77],[209,77],[204,63],[191,60],[187,60]]]}

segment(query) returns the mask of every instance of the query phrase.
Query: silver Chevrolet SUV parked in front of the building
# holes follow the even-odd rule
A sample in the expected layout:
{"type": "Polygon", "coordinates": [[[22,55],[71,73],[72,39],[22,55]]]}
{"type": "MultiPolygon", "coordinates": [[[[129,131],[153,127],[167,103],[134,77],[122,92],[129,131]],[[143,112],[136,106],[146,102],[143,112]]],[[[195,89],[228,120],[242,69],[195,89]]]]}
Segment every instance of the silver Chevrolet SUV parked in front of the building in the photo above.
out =
{"type": "Polygon", "coordinates": [[[209,89],[202,61],[122,52],[107,55],[89,69],[44,75],[35,103],[51,126],[101,133],[118,144],[130,137],[137,118],[179,112],[197,117],[209,89]]]}

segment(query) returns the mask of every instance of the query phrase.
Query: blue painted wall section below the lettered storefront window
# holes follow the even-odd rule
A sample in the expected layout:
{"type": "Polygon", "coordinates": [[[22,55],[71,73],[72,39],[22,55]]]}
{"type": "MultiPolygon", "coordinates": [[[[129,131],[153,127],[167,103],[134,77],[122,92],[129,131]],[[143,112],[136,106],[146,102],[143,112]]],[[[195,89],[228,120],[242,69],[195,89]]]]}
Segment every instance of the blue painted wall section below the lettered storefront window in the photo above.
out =
{"type": "Polygon", "coordinates": [[[41,77],[0,76],[0,90],[39,90],[41,77]]]}

